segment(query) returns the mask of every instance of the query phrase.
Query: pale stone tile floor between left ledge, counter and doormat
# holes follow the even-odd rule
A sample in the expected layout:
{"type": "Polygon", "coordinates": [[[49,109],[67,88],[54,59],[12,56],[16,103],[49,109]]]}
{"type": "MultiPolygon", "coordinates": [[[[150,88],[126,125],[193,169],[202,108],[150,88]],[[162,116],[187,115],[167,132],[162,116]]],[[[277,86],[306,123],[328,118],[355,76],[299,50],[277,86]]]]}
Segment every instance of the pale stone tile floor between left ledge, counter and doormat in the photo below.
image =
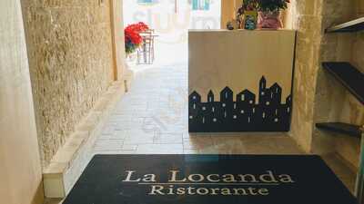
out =
{"type": "Polygon", "coordinates": [[[187,131],[187,63],[136,66],[95,144],[96,154],[297,154],[285,133],[187,131]]]}

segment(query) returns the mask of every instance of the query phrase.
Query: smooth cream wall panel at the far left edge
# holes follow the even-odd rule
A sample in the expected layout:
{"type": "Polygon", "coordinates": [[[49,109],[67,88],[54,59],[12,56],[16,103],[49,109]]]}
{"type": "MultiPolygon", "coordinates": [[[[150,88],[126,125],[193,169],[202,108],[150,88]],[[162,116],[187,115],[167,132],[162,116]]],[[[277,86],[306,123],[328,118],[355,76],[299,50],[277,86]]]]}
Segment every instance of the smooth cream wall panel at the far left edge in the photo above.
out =
{"type": "Polygon", "coordinates": [[[0,203],[43,202],[20,0],[0,1],[0,203]]]}

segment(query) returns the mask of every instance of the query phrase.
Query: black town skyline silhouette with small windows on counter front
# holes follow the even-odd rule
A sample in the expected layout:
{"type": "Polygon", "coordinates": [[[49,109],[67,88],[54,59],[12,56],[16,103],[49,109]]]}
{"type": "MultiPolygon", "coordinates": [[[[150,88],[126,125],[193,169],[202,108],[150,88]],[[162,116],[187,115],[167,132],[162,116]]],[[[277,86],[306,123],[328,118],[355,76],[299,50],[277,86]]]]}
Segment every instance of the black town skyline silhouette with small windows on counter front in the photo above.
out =
{"type": "Polygon", "coordinates": [[[207,102],[192,92],[188,99],[188,130],[190,132],[227,131],[289,131],[292,97],[282,103],[282,88],[274,83],[267,88],[264,76],[259,82],[258,104],[256,94],[248,90],[234,92],[226,87],[220,92],[220,102],[214,100],[212,91],[207,102]]]}

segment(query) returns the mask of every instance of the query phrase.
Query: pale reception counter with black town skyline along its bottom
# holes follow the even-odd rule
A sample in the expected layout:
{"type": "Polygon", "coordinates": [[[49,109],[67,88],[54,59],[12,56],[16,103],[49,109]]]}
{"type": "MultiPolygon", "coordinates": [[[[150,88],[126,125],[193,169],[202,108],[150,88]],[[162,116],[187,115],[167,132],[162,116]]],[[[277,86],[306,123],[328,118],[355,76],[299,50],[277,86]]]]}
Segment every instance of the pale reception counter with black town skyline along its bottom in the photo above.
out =
{"type": "Polygon", "coordinates": [[[191,30],[191,132],[289,131],[296,32],[191,30]]]}

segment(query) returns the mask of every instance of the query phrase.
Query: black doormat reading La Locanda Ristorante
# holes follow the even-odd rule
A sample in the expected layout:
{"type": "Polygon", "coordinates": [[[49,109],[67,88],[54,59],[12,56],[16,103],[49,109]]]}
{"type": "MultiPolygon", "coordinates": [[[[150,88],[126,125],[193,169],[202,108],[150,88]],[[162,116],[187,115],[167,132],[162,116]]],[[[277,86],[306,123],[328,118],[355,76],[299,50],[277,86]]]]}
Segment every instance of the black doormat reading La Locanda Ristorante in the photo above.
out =
{"type": "Polygon", "coordinates": [[[319,156],[97,155],[64,204],[356,204],[319,156]]]}

